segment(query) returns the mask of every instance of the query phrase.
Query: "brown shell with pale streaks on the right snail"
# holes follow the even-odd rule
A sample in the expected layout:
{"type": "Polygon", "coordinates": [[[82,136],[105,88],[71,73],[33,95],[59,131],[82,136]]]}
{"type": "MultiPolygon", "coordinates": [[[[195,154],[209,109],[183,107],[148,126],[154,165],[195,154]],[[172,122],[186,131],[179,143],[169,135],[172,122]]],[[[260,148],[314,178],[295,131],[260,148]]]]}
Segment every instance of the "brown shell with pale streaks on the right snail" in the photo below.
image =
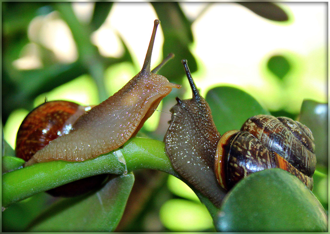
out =
{"type": "Polygon", "coordinates": [[[314,138],[305,125],[287,117],[257,115],[241,131],[228,131],[218,143],[215,174],[230,189],[250,173],[281,168],[313,189],[316,157],[314,138]]]}

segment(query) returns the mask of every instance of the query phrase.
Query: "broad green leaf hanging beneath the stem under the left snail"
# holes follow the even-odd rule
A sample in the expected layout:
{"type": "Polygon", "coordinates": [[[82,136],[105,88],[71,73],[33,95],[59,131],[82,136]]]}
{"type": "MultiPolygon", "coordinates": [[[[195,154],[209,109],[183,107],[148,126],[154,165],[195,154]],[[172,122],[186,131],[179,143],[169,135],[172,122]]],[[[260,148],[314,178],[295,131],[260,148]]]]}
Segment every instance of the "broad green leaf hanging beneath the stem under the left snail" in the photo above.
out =
{"type": "Polygon", "coordinates": [[[124,212],[134,175],[117,176],[99,191],[79,198],[63,198],[42,213],[29,231],[113,231],[124,212]]]}

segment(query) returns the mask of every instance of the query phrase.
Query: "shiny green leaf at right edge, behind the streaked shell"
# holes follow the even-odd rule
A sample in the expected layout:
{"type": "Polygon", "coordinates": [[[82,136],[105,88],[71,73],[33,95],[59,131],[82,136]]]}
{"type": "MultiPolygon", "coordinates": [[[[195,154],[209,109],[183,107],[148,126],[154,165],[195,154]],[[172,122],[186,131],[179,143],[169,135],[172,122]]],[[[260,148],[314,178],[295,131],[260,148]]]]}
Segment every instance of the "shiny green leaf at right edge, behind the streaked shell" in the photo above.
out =
{"type": "Polygon", "coordinates": [[[304,100],[298,121],[313,133],[316,163],[328,167],[328,103],[304,100]]]}

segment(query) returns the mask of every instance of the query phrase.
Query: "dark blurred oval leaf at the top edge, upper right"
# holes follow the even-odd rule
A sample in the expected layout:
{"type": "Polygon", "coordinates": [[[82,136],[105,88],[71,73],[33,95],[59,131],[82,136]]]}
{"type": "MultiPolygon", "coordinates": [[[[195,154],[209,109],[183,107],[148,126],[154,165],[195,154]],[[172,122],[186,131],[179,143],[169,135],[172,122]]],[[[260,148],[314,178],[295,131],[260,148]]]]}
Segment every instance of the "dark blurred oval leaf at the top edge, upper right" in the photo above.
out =
{"type": "Polygon", "coordinates": [[[289,17],[285,11],[272,2],[237,2],[248,8],[255,14],[266,19],[275,21],[288,21],[289,17]]]}

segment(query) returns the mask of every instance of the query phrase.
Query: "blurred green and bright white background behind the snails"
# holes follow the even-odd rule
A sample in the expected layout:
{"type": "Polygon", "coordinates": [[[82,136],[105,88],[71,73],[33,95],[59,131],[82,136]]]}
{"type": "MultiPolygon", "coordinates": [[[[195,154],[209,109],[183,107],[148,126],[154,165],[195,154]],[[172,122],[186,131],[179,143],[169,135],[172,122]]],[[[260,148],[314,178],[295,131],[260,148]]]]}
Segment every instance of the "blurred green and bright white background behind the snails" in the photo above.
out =
{"type": "MultiPolygon", "coordinates": [[[[296,119],[304,99],[328,100],[327,9],[324,2],[4,2],[3,138],[15,149],[21,121],[45,98],[95,105],[115,93],[141,70],[156,18],[152,67],[175,53],[158,74],[183,86],[158,110],[169,112],[176,96],[191,97],[180,62],[187,59],[203,96],[215,86],[239,87],[274,116],[296,119]]],[[[155,112],[140,136],[162,140],[170,118],[155,112]]],[[[181,181],[154,171],[137,174],[139,181],[148,191],[140,193],[144,202],[131,206],[118,231],[214,230],[181,181]]]]}

